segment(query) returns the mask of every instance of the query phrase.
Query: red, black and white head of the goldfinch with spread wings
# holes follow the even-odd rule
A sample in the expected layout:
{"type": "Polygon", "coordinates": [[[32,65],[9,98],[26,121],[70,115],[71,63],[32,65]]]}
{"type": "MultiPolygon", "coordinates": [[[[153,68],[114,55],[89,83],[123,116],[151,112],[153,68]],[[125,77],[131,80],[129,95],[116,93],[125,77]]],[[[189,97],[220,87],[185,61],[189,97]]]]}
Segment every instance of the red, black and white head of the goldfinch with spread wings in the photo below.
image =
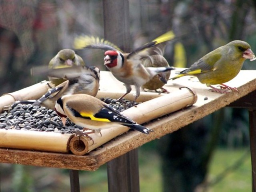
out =
{"type": "Polygon", "coordinates": [[[124,56],[116,50],[108,50],[104,53],[104,65],[108,68],[115,66],[122,66],[124,63],[124,56]]]}

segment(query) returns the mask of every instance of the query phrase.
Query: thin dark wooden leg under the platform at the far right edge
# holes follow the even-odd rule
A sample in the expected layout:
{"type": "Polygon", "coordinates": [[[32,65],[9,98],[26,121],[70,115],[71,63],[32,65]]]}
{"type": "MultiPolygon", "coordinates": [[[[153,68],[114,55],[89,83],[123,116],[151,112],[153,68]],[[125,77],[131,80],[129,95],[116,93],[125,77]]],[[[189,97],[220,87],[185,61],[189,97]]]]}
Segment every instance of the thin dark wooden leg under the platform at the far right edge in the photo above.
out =
{"type": "Polygon", "coordinates": [[[256,192],[256,110],[249,110],[252,192],[256,192]]]}

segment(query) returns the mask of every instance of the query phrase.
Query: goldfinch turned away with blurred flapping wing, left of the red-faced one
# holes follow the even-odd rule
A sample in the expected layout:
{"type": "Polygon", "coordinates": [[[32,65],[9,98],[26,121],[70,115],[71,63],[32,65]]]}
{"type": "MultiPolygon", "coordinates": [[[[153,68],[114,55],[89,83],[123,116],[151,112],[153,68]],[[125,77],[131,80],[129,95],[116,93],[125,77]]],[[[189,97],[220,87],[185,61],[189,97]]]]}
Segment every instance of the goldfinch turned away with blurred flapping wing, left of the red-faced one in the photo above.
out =
{"type": "Polygon", "coordinates": [[[33,68],[34,74],[47,74],[48,76],[66,78],[65,82],[50,89],[38,100],[21,101],[23,104],[44,106],[48,109],[55,109],[55,103],[61,96],[72,94],[88,94],[96,96],[100,84],[100,70],[95,66],[74,66],[70,68],[42,69],[33,68]]]}

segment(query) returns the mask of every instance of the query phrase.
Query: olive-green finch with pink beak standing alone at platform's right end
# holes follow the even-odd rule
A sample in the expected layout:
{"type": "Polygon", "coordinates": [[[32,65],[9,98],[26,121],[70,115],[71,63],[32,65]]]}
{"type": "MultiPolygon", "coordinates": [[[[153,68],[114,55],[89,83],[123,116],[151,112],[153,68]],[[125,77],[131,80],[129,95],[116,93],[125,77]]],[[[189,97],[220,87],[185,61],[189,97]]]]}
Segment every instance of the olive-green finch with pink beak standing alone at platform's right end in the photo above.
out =
{"type": "Polygon", "coordinates": [[[198,80],[218,93],[227,93],[236,88],[223,83],[233,79],[241,70],[246,59],[254,60],[251,46],[244,41],[235,40],[221,46],[200,58],[190,68],[183,70],[171,78],[172,80],[185,75],[196,76],[198,80]],[[212,85],[220,84],[220,89],[212,85]]]}

